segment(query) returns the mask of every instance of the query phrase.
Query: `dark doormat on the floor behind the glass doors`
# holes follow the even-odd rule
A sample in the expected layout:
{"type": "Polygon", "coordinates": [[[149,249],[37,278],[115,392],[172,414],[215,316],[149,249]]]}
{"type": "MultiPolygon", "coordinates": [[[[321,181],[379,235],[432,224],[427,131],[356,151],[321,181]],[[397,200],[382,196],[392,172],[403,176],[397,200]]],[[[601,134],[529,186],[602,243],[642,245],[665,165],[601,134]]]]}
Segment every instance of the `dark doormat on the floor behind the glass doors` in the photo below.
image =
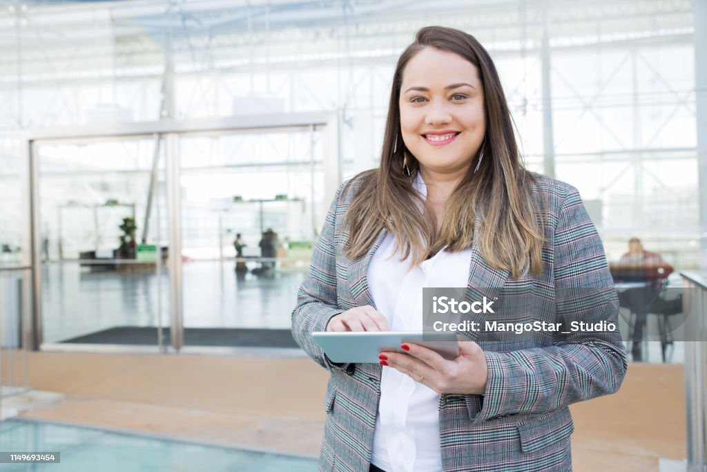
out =
{"type": "MultiPolygon", "coordinates": [[[[163,343],[170,343],[170,328],[162,329],[163,343]]],[[[296,347],[288,329],[251,328],[185,328],[187,346],[227,347],[296,347]]],[[[62,343],[157,345],[157,328],[149,326],[115,326],[62,343]]]]}

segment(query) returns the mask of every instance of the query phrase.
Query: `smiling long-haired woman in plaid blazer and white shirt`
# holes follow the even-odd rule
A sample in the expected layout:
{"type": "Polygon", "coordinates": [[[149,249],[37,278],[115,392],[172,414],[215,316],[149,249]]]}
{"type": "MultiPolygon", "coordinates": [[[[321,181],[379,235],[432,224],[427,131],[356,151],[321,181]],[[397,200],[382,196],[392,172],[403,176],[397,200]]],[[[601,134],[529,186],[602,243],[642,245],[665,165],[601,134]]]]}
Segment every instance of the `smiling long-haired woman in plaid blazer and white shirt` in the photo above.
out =
{"type": "Polygon", "coordinates": [[[506,303],[522,321],[618,311],[577,190],[522,167],[491,57],[440,27],[400,56],[380,167],[339,187],[292,313],[293,337],[331,372],[320,471],[571,470],[567,407],[617,391],[618,333],[465,332],[454,360],[408,343],[380,365],[332,364],[312,342],[419,330],[422,287],[540,294],[506,303]]]}

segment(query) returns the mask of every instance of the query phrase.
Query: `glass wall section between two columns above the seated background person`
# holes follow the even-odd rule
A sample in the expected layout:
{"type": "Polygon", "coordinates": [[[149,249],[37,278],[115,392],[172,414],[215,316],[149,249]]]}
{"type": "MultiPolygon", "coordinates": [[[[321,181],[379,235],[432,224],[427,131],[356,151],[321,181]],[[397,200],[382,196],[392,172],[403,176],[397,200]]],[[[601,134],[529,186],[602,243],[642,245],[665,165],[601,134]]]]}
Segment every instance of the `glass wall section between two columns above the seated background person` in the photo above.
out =
{"type": "Polygon", "coordinates": [[[600,203],[611,259],[638,236],[673,265],[698,263],[693,54],[655,42],[552,55],[556,175],[600,203]]]}

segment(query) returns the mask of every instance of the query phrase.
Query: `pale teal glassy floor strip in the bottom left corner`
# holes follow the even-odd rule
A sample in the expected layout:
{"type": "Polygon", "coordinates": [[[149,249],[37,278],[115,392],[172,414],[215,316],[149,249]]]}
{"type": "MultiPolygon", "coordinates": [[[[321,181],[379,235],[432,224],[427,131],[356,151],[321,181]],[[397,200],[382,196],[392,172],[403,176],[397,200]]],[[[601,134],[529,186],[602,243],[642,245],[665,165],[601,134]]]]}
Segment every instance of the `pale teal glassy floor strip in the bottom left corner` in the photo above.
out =
{"type": "Polygon", "coordinates": [[[305,472],[317,469],[315,459],[22,420],[0,422],[0,451],[61,453],[59,464],[0,464],[3,472],[305,472]]]}

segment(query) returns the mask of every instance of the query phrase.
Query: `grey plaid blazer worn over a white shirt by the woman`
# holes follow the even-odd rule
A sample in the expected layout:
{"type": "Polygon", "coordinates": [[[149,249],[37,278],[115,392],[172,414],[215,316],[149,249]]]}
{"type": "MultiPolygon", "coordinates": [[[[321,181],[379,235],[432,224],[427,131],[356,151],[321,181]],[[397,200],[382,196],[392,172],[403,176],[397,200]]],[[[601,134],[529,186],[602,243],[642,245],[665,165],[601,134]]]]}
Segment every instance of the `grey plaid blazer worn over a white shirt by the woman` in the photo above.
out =
{"type": "MultiPolygon", "coordinates": [[[[486,263],[474,242],[469,298],[493,296],[499,289],[551,294],[565,289],[561,299],[525,309],[518,313],[520,318],[532,321],[541,314],[545,320],[616,322],[619,304],[602,242],[578,191],[558,180],[536,177],[536,197],[542,197],[547,209],[542,274],[510,279],[508,270],[486,263]],[[585,290],[588,287],[600,289],[600,297],[585,290]]],[[[374,306],[366,275],[385,231],[362,258],[349,260],[343,255],[348,238],[342,227],[344,215],[357,185],[353,182],[345,191],[343,183],[339,186],[292,312],[293,338],[331,372],[320,471],[368,471],[380,398],[379,364],[332,364],[310,336],[324,331],[337,313],[374,306]]],[[[474,316],[484,319],[483,314],[474,316]]],[[[529,333],[501,342],[481,333],[472,339],[486,355],[486,391],[483,396],[440,395],[443,471],[571,471],[574,427],[568,405],[617,391],[626,374],[626,350],[619,333],[582,331],[563,338],[529,333]]]]}

